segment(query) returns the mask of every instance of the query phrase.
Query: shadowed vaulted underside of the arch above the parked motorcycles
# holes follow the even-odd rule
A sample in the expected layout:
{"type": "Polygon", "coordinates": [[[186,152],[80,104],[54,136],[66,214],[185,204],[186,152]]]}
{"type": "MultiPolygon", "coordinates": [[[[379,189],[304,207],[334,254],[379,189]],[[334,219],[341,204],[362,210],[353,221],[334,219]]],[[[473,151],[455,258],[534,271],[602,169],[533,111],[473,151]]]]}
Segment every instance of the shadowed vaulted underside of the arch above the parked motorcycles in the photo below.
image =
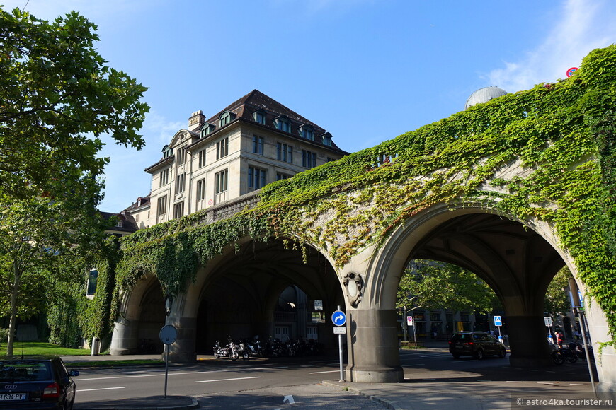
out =
{"type": "Polygon", "coordinates": [[[322,252],[309,245],[306,252],[304,264],[302,250],[285,249],[282,239],[261,242],[246,237],[200,266],[195,281],[174,295],[167,321],[178,328],[178,340],[171,346],[173,360],[192,361],[198,351],[209,353],[208,346],[227,336],[273,336],[275,303],[290,285],[302,289],[309,301],[324,300],[324,310],[336,310],[336,303],[342,303],[336,271],[322,252]],[[241,317],[241,311],[249,313],[241,317]],[[228,317],[217,320],[219,315],[228,317]]]}

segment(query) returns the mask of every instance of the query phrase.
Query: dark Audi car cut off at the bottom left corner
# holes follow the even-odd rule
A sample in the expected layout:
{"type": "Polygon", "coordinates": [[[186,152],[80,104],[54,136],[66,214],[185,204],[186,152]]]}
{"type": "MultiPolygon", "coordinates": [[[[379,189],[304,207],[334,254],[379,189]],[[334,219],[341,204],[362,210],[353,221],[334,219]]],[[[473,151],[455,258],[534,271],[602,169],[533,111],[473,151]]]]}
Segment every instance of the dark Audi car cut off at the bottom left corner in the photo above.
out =
{"type": "Polygon", "coordinates": [[[0,360],[0,409],[70,410],[78,375],[59,357],[0,360]]]}

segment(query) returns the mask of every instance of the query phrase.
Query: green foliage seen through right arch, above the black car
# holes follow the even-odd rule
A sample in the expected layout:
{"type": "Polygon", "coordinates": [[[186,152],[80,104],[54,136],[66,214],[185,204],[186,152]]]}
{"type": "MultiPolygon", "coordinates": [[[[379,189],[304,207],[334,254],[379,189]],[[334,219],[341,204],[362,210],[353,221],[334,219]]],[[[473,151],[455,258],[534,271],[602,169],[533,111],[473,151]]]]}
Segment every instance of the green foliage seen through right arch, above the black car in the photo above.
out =
{"type": "Polygon", "coordinates": [[[453,264],[416,260],[402,274],[396,307],[489,313],[499,303],[490,286],[472,272],[453,264]]]}

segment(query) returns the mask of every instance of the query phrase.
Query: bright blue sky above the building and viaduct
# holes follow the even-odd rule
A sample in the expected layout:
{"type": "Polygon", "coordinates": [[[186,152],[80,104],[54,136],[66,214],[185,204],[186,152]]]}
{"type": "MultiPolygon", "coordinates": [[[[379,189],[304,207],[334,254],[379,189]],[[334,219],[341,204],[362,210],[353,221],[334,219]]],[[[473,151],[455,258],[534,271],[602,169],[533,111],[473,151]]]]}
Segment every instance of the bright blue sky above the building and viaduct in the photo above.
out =
{"type": "Polygon", "coordinates": [[[331,132],[375,146],[464,108],[484,86],[508,92],[566,77],[616,42],[612,0],[0,0],[98,25],[98,51],[137,78],[151,106],[142,151],[103,151],[102,211],[149,193],[144,168],[191,112],[261,90],[331,132]],[[27,6],[25,6],[27,2],[27,6]]]}

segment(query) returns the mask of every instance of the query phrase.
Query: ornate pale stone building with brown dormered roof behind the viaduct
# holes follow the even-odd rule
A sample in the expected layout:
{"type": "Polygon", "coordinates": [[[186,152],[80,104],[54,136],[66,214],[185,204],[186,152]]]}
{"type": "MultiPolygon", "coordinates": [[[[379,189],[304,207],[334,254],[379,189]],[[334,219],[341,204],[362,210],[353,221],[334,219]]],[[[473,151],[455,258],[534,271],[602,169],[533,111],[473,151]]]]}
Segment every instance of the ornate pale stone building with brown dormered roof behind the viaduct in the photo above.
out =
{"type": "Polygon", "coordinates": [[[249,194],[346,155],[331,134],[258,90],[207,118],[193,112],[145,169],[152,190],[125,213],[139,229],[249,194]]]}

